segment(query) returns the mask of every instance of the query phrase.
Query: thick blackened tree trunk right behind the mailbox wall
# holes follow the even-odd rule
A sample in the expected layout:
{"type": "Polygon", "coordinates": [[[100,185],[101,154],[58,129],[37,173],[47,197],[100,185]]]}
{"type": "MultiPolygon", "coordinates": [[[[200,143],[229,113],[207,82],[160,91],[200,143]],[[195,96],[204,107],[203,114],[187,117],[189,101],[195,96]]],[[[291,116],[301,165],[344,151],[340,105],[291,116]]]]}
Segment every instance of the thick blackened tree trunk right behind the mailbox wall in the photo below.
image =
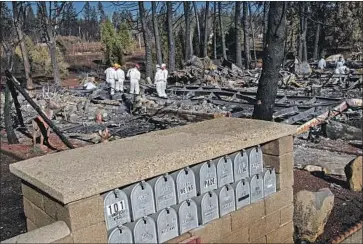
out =
{"type": "Polygon", "coordinates": [[[284,56],[286,2],[271,2],[268,15],[267,45],[264,49],[261,78],[258,82],[254,119],[272,120],[279,70],[284,56]]]}

